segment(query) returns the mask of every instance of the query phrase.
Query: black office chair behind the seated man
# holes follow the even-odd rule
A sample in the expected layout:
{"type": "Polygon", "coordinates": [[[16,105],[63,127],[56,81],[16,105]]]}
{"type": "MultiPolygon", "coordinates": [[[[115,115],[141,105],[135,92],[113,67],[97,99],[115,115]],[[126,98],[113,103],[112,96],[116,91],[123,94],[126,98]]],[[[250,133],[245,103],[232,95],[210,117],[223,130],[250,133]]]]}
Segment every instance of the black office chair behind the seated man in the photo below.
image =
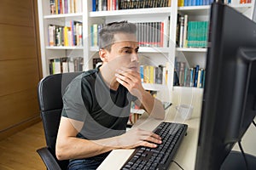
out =
{"type": "Polygon", "coordinates": [[[49,170],[67,169],[67,160],[56,159],[55,143],[61,120],[62,94],[69,82],[79,74],[81,72],[50,75],[38,83],[38,102],[47,146],[37,152],[49,170]]]}

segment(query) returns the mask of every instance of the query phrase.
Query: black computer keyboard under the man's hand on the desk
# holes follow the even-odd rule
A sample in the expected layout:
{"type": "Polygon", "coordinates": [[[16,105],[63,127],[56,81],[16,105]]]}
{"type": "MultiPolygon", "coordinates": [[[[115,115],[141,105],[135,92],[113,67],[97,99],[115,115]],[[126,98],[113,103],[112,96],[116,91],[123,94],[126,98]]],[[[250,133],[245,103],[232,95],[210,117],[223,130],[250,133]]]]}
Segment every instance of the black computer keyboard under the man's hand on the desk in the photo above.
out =
{"type": "Polygon", "coordinates": [[[137,147],[121,169],[168,169],[187,128],[186,124],[161,122],[153,132],[160,135],[162,144],[157,148],[137,147]]]}

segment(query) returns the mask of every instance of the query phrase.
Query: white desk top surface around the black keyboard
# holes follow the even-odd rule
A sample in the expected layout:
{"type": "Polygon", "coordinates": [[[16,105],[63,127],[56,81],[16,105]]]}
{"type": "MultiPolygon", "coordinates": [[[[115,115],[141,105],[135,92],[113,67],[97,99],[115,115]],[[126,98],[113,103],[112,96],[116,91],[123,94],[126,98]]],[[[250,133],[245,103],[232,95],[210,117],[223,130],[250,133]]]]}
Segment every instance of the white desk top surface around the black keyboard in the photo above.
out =
{"type": "MultiPolygon", "coordinates": [[[[173,111],[171,107],[169,114],[166,116],[166,122],[183,122],[177,118],[176,111],[173,111]],[[171,113],[171,114],[170,114],[171,113]]],[[[148,116],[143,115],[133,127],[139,127],[146,130],[153,130],[161,121],[148,116]]],[[[180,147],[177,150],[177,154],[174,157],[174,161],[183,167],[183,169],[189,170],[195,167],[196,145],[198,139],[200,119],[192,117],[188,121],[184,122],[189,125],[187,136],[184,136],[180,147]]],[[[123,166],[125,161],[131,156],[133,150],[113,150],[108,157],[102,162],[99,170],[117,170],[123,166]]],[[[180,170],[175,163],[171,163],[170,169],[180,170]]]]}

